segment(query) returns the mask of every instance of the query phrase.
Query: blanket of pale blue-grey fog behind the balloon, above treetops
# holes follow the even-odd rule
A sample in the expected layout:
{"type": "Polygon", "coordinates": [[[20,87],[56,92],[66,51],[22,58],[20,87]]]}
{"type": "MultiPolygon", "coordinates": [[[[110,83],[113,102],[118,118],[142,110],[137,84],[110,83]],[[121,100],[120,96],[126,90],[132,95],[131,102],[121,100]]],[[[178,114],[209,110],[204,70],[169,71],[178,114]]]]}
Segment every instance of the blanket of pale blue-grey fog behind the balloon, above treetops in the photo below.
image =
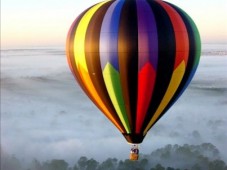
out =
{"type": "MultiPolygon", "coordinates": [[[[5,50],[1,146],[20,158],[125,159],[124,137],[75,83],[62,49],[5,50]]],[[[223,54],[223,53],[222,53],[223,54]]],[[[166,144],[227,143],[227,54],[203,56],[191,85],[147,134],[141,152],[166,144]]],[[[221,153],[227,160],[226,153],[221,153]]]]}

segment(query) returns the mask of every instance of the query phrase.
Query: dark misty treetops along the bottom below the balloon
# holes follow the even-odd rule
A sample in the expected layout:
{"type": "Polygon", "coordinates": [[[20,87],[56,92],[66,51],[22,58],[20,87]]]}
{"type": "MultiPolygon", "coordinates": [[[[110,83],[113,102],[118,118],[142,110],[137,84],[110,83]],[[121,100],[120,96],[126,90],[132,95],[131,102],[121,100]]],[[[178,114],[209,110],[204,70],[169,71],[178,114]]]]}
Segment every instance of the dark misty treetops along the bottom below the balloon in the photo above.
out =
{"type": "Polygon", "coordinates": [[[166,145],[151,154],[140,155],[138,161],[107,158],[98,162],[95,158],[81,156],[73,165],[66,160],[53,159],[29,165],[1,149],[1,170],[227,170],[219,150],[211,143],[201,145],[166,145]]]}

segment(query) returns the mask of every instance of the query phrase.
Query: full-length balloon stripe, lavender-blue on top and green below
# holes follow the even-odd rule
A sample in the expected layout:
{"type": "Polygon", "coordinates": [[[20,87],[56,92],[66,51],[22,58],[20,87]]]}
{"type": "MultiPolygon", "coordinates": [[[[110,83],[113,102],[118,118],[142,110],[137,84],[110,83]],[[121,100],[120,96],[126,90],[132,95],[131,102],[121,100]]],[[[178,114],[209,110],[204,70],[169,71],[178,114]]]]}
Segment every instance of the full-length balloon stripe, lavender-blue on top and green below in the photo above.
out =
{"type": "Polygon", "coordinates": [[[126,114],[118,63],[118,32],[124,1],[115,1],[107,10],[100,33],[100,60],[104,82],[113,106],[127,133],[130,125],[126,114]]]}

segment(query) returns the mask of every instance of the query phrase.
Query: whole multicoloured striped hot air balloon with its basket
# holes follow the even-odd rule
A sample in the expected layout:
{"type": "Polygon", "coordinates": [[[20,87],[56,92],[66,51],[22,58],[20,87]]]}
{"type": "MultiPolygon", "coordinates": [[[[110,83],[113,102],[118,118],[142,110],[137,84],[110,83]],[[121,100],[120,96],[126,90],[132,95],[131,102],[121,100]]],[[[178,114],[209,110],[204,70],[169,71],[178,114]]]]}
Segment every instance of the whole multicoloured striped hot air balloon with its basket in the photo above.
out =
{"type": "Polygon", "coordinates": [[[134,150],[189,85],[201,42],[193,20],[171,3],[110,0],[75,19],[66,53],[83,91],[134,150]]]}

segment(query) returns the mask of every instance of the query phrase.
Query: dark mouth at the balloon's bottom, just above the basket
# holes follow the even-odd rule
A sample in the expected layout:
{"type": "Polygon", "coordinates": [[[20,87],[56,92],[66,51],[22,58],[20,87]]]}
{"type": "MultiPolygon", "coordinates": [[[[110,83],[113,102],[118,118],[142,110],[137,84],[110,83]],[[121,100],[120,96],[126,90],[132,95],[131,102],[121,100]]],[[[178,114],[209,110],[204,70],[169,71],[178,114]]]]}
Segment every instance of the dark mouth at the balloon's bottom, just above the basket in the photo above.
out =
{"type": "Polygon", "coordinates": [[[140,144],[143,142],[145,135],[143,133],[122,133],[130,144],[140,144]]]}

